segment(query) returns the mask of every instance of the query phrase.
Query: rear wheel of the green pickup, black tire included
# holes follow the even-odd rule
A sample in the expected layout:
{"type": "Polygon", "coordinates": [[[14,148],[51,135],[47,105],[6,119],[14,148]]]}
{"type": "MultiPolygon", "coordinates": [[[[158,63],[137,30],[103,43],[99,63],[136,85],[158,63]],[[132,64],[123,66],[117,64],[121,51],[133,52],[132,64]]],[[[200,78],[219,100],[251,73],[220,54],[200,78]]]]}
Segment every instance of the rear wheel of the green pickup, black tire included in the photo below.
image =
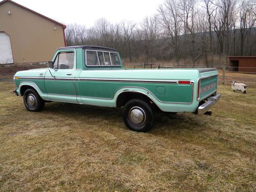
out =
{"type": "Polygon", "coordinates": [[[132,131],[147,132],[154,124],[154,110],[141,99],[131,99],[123,107],[123,122],[132,131]]]}

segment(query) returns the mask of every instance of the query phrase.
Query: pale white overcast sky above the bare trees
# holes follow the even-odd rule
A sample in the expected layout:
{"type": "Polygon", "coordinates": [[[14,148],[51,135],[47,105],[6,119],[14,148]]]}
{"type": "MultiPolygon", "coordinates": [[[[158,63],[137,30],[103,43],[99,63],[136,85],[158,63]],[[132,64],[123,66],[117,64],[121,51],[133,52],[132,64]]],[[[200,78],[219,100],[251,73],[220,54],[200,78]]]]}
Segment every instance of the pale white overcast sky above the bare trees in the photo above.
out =
{"type": "MultiPolygon", "coordinates": [[[[1,1],[1,0],[0,0],[1,1]]],[[[139,23],[154,15],[164,0],[13,0],[62,24],[79,24],[87,28],[105,17],[110,23],[122,20],[139,23]]]]}

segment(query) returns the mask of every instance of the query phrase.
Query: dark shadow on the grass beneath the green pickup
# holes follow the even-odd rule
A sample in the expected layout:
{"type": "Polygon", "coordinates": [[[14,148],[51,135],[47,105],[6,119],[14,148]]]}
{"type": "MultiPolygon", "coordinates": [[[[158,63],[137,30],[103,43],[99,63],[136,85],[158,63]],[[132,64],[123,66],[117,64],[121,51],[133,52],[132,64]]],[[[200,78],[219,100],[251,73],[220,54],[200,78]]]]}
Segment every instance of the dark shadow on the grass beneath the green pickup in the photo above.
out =
{"type": "MultiPolygon", "coordinates": [[[[102,106],[81,105],[74,103],[50,102],[46,103],[42,113],[50,116],[60,115],[70,117],[73,120],[97,118],[102,121],[123,122],[122,108],[107,108],[102,106]]],[[[203,122],[199,121],[197,115],[191,113],[156,113],[155,124],[149,133],[154,130],[193,130],[194,127],[202,126],[203,122]]]]}

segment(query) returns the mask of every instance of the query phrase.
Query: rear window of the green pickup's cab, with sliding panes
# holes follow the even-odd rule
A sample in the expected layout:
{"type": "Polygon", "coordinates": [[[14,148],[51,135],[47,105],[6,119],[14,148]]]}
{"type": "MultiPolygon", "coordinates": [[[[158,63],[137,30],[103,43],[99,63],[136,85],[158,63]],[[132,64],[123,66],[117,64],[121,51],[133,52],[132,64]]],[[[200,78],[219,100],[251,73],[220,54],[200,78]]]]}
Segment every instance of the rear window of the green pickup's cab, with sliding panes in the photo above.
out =
{"type": "Polygon", "coordinates": [[[120,66],[117,52],[86,50],[87,66],[120,66]]]}

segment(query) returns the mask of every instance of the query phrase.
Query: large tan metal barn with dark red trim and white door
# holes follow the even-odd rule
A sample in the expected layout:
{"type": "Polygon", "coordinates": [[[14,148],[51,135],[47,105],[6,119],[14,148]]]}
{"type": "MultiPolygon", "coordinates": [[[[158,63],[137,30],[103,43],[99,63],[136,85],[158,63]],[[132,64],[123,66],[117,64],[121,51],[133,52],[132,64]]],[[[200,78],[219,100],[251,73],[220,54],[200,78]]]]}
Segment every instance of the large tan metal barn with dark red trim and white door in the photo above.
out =
{"type": "Polygon", "coordinates": [[[13,1],[0,2],[0,64],[51,60],[66,46],[65,28],[13,1]]]}

